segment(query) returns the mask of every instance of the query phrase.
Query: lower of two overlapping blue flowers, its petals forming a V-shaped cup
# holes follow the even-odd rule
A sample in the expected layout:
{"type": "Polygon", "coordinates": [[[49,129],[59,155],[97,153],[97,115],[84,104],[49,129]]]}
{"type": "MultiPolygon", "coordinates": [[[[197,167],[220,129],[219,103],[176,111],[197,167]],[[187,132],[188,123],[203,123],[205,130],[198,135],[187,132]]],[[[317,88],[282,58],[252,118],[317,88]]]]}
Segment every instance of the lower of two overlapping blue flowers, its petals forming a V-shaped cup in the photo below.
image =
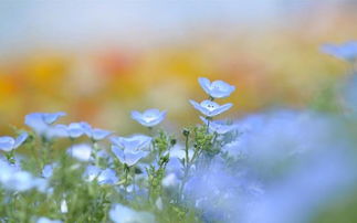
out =
{"type": "Polygon", "coordinates": [[[139,161],[139,159],[147,156],[145,151],[135,151],[129,149],[120,149],[119,147],[113,145],[112,151],[119,159],[122,163],[125,163],[129,167],[134,166],[139,161]]]}

